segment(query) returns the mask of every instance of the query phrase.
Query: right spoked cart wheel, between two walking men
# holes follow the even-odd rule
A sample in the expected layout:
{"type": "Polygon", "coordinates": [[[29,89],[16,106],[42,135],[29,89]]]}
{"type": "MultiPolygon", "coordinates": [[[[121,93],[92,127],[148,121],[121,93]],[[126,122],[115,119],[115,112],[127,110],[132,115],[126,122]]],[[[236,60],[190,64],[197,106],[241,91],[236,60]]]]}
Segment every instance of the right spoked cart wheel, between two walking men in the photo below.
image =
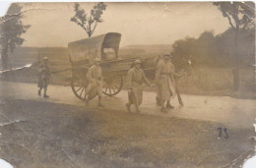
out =
{"type": "Polygon", "coordinates": [[[103,81],[103,94],[105,95],[115,95],[121,91],[123,86],[123,78],[122,76],[115,76],[108,79],[104,79],[103,81]]]}

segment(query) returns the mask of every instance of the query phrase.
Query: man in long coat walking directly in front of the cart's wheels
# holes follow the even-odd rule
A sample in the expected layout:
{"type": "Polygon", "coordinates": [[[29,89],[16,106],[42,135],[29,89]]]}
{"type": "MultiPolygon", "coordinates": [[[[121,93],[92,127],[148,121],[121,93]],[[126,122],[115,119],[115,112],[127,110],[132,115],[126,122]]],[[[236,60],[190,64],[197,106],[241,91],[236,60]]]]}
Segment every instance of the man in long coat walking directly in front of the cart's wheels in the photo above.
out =
{"type": "Polygon", "coordinates": [[[102,71],[101,67],[99,66],[100,59],[96,58],[94,65],[88,70],[87,73],[87,80],[89,84],[86,88],[85,98],[86,104],[89,104],[89,101],[93,99],[96,95],[98,96],[98,103],[99,107],[103,107],[101,104],[101,97],[102,97],[102,71]]]}

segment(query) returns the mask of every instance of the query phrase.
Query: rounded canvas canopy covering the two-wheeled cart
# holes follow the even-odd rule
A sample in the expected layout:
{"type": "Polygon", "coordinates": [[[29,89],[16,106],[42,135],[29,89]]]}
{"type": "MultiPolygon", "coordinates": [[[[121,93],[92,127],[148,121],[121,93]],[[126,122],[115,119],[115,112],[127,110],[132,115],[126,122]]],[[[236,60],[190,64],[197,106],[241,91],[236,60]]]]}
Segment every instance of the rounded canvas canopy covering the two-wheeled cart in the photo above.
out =
{"type": "Polygon", "coordinates": [[[96,57],[101,61],[113,60],[118,57],[120,40],[120,33],[108,32],[70,42],[68,44],[70,62],[93,64],[96,57]]]}

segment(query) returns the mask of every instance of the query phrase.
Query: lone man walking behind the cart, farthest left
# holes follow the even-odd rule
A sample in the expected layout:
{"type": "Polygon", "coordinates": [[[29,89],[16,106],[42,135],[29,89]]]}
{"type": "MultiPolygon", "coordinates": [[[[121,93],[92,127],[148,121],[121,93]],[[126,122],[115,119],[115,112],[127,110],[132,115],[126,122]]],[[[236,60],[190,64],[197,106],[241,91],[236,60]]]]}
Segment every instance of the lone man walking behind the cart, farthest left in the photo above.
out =
{"type": "Polygon", "coordinates": [[[47,86],[50,82],[51,71],[50,66],[48,64],[48,58],[43,57],[42,63],[39,64],[38,67],[38,84],[39,87],[38,95],[41,96],[41,89],[44,89],[43,97],[48,98],[49,96],[46,94],[47,86]]]}

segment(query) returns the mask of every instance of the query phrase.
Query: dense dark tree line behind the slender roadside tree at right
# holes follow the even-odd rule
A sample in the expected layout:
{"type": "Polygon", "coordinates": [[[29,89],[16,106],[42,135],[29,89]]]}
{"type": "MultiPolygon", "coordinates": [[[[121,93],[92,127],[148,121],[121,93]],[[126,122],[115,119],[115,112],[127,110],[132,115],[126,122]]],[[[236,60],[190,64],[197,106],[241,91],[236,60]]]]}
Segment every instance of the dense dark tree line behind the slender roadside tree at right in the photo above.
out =
{"type": "Polygon", "coordinates": [[[172,44],[172,49],[174,59],[192,56],[194,65],[252,66],[255,59],[255,28],[247,28],[240,32],[236,44],[234,32],[228,28],[216,35],[210,30],[201,33],[198,38],[186,37],[176,40],[172,44]],[[238,60],[234,62],[235,54],[238,60]]]}

